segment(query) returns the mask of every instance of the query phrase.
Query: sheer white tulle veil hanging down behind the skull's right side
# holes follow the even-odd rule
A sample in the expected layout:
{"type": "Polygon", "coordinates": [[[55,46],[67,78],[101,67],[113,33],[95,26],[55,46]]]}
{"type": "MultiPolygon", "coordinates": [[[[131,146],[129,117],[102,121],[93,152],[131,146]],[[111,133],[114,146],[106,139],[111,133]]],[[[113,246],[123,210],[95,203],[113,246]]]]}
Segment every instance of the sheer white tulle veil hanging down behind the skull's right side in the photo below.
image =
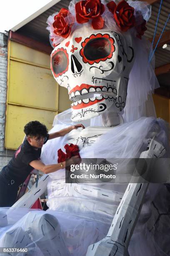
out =
{"type": "Polygon", "coordinates": [[[126,105],[122,116],[125,122],[141,116],[156,116],[152,93],[159,86],[155,76],[155,59],[148,63],[151,44],[145,38],[134,38],[135,62],[128,82],[126,105]]]}

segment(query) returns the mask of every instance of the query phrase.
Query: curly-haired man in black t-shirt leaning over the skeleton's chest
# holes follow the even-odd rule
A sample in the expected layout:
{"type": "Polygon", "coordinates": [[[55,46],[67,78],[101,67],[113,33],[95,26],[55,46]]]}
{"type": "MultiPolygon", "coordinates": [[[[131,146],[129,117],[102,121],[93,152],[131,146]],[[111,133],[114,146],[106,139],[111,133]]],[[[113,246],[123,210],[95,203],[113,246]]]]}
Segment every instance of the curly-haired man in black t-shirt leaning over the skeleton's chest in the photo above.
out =
{"type": "MultiPolygon", "coordinates": [[[[13,158],[0,172],[0,207],[10,207],[15,203],[18,187],[33,169],[45,174],[65,168],[65,161],[59,164],[45,165],[40,161],[41,148],[47,140],[65,136],[73,129],[85,128],[82,124],[72,125],[58,132],[48,134],[47,127],[38,121],[31,121],[24,127],[26,138],[15,151],[13,158]]],[[[69,159],[68,165],[77,164],[78,156],[69,159]]]]}

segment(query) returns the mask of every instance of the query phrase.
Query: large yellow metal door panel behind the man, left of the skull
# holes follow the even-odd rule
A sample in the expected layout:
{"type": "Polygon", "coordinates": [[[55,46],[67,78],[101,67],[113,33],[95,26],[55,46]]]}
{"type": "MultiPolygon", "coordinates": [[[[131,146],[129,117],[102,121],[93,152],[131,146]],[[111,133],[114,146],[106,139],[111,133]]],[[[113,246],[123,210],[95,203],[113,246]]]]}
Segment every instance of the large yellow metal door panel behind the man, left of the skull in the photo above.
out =
{"type": "Polygon", "coordinates": [[[22,143],[29,121],[38,120],[51,129],[55,115],[67,108],[67,90],[55,82],[50,56],[9,41],[5,148],[16,149],[22,143]]]}

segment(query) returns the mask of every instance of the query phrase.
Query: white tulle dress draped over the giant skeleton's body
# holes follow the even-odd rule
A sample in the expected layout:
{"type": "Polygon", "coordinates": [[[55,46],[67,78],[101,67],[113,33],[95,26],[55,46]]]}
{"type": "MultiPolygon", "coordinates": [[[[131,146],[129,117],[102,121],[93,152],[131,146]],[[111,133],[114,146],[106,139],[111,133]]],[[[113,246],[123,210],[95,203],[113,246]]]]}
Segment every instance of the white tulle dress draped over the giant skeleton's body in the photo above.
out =
{"type": "MultiPolygon", "coordinates": [[[[70,110],[56,117],[50,132],[71,125],[66,118],[69,113],[70,110]]],[[[97,118],[97,122],[91,120],[91,123],[101,125],[100,121],[97,118]]],[[[95,143],[80,148],[80,156],[123,159],[139,157],[147,147],[150,133],[158,132],[158,126],[160,131],[157,138],[164,144],[168,154],[164,121],[143,117],[109,128],[95,143]]],[[[45,164],[56,163],[57,150],[63,149],[69,141],[74,143],[70,134],[48,141],[43,146],[41,160],[45,164]]],[[[49,175],[47,211],[15,209],[6,216],[7,208],[0,208],[0,247],[26,247],[30,250],[27,255],[84,256],[90,244],[107,236],[128,184],[65,184],[64,169],[49,175]],[[109,196],[101,197],[101,194],[109,196]]],[[[130,256],[169,255],[169,194],[163,184],[150,184],[128,248],[130,256]]]]}

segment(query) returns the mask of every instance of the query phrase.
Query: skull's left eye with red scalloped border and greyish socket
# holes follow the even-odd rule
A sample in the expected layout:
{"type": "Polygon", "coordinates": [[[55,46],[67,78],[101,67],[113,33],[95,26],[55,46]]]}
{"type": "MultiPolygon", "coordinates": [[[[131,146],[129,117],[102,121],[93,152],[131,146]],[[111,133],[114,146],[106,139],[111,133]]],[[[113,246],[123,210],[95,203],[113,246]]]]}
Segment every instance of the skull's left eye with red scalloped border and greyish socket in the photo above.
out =
{"type": "Polygon", "coordinates": [[[59,77],[68,71],[69,58],[67,50],[58,48],[51,55],[51,70],[55,77],[59,77]]]}

